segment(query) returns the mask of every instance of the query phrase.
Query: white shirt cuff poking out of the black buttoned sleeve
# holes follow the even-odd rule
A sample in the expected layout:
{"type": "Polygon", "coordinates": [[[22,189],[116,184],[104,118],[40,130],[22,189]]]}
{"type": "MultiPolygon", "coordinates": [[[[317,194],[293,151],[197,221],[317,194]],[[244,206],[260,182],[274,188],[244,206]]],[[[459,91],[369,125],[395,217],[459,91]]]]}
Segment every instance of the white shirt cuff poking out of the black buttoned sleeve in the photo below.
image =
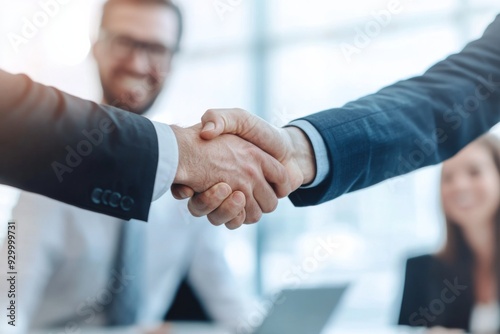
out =
{"type": "Polygon", "coordinates": [[[174,182],[179,165],[179,147],[170,126],[153,121],[158,136],[158,168],[156,169],[153,201],[163,196],[174,182]]]}

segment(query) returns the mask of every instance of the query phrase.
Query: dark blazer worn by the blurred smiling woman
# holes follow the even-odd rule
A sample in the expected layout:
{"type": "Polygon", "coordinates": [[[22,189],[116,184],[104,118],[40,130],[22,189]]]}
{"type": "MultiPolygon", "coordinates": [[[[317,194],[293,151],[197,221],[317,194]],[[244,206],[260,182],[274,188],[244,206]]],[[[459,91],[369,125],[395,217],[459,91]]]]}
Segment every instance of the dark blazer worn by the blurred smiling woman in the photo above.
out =
{"type": "Polygon", "coordinates": [[[453,268],[433,255],[411,258],[398,324],[469,330],[473,291],[470,270],[453,268]]]}

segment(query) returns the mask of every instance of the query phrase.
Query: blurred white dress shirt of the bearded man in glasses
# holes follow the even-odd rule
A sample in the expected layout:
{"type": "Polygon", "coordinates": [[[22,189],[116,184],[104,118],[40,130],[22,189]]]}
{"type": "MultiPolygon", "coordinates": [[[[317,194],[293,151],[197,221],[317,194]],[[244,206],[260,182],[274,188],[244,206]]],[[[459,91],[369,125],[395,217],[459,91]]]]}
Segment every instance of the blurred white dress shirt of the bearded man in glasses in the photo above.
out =
{"type": "MultiPolygon", "coordinates": [[[[123,221],[30,193],[21,194],[13,218],[18,224],[17,326],[5,329],[2,321],[0,332],[105,324],[100,310],[105,302],[100,300],[109,284],[117,282],[110,273],[123,221]]],[[[225,229],[192,217],[186,202],[170,193],[152,204],[148,223],[130,223],[141,224],[146,241],[140,324],[161,322],[187,275],[209,315],[226,327],[238,326],[248,300],[224,259],[225,229]]],[[[4,244],[3,273],[8,271],[6,252],[4,244]]],[[[2,280],[3,310],[4,284],[2,280]]]]}

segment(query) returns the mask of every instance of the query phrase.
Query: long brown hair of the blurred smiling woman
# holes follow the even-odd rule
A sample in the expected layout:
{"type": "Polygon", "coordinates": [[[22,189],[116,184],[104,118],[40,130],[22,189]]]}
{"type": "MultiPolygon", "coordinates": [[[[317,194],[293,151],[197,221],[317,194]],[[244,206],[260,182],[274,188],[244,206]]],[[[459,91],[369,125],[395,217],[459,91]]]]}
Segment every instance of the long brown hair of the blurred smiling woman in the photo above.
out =
{"type": "MultiPolygon", "coordinates": [[[[500,174],[500,139],[492,134],[486,134],[474,143],[486,148],[495,163],[497,172],[500,174]]],[[[500,187],[500,184],[498,185],[500,187]]],[[[500,207],[500,203],[499,207],[500,207]]],[[[495,218],[495,258],[500,259],[500,212],[497,211],[495,218]]],[[[457,265],[459,262],[465,265],[472,265],[472,251],[465,241],[464,234],[460,227],[445,214],[446,219],[446,242],[444,247],[436,256],[451,265],[457,265]]],[[[498,261],[495,261],[497,263],[498,261]]],[[[497,265],[498,266],[498,265],[497,265]]],[[[498,268],[496,268],[498,271],[498,268]]]]}

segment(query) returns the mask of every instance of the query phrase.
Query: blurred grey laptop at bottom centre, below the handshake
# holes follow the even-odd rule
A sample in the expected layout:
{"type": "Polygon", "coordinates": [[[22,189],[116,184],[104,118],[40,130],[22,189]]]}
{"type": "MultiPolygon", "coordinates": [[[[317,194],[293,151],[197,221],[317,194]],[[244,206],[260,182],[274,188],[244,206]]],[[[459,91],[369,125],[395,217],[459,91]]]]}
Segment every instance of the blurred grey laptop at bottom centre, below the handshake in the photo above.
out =
{"type": "Polygon", "coordinates": [[[253,334],[321,333],[338,306],[347,285],[283,290],[253,334]]]}

